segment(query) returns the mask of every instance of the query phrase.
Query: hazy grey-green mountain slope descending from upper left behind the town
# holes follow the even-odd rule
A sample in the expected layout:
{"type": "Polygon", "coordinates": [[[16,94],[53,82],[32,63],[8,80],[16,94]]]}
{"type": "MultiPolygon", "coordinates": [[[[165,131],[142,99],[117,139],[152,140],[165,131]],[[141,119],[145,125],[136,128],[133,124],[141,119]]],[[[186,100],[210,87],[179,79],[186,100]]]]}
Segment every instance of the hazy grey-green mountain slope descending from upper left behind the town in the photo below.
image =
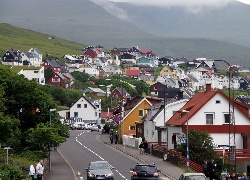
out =
{"type": "Polygon", "coordinates": [[[156,36],[121,21],[89,0],[2,2],[0,22],[81,44],[102,45],[106,49],[139,46],[141,49],[151,49],[159,56],[225,59],[230,63],[239,62],[249,66],[248,47],[205,38],[156,36]],[[8,10],[10,8],[12,11],[8,10]]]}

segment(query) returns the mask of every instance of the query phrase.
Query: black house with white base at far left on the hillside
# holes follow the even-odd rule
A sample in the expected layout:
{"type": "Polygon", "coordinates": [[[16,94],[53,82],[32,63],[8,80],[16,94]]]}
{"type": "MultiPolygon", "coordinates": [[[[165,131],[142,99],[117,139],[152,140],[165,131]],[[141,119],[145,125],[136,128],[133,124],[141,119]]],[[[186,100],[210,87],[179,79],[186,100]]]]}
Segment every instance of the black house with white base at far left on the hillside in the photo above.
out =
{"type": "Polygon", "coordinates": [[[2,56],[2,63],[4,65],[22,66],[22,56],[19,50],[7,50],[2,56]]]}

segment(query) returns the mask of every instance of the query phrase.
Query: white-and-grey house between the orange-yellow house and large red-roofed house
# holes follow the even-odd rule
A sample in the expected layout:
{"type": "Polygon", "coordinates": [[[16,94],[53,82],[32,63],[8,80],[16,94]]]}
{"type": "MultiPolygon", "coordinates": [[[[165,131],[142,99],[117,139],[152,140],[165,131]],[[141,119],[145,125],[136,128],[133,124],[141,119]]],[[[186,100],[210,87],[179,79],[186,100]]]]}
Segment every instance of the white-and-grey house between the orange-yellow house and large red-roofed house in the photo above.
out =
{"type": "MultiPolygon", "coordinates": [[[[181,96],[180,96],[181,97],[181,96]]],[[[180,108],[182,108],[188,99],[181,98],[167,100],[164,103],[157,104],[147,109],[147,117],[144,118],[144,134],[146,141],[148,142],[168,142],[167,147],[169,149],[175,148],[172,143],[172,137],[167,139],[165,122],[170,119],[180,108]]]]}

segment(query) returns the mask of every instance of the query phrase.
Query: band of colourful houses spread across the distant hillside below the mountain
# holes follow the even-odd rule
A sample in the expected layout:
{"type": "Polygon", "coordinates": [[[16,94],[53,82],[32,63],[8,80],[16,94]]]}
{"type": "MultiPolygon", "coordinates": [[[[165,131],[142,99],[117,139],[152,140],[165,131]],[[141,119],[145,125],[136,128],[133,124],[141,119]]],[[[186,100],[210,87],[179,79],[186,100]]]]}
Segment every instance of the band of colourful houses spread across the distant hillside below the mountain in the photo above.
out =
{"type": "MultiPolygon", "coordinates": [[[[37,48],[28,51],[7,50],[2,57],[2,64],[23,66],[20,72],[28,79],[35,77],[41,84],[52,84],[58,87],[70,88],[74,82],[70,75],[73,71],[80,71],[95,78],[105,78],[113,74],[128,76],[144,81],[149,85],[154,83],[167,84],[168,87],[190,88],[193,91],[204,89],[207,82],[213,89],[231,88],[249,89],[249,77],[229,77],[218,75],[214,61],[206,58],[188,60],[185,57],[159,57],[152,50],[139,47],[114,48],[106,52],[102,46],[88,46],[82,55],[64,55],[65,61],[47,59],[42,61],[42,53],[37,48]],[[25,67],[27,65],[27,67],[25,67]],[[181,68],[181,67],[185,68],[181,68]],[[37,68],[41,67],[37,73],[37,68]],[[123,68],[122,68],[123,67],[123,68]],[[163,67],[156,75],[154,67],[163,67]],[[54,75],[50,79],[44,78],[44,70],[50,68],[54,75]],[[184,70],[185,69],[185,70],[184,70]],[[25,71],[24,71],[25,70],[25,71]],[[33,70],[33,73],[30,72],[33,70]],[[36,74],[36,76],[33,76],[36,74]]],[[[234,72],[250,72],[249,68],[232,66],[234,72]]]]}

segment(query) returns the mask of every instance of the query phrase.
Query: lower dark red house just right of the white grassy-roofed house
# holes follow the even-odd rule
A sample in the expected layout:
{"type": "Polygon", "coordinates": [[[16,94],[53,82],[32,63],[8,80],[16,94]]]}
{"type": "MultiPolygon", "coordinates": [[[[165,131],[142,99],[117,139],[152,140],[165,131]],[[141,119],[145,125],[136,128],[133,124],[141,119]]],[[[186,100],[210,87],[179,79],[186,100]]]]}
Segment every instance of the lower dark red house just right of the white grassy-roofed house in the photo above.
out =
{"type": "Polygon", "coordinates": [[[65,73],[56,72],[53,76],[46,80],[46,84],[51,84],[57,87],[70,89],[73,84],[73,77],[65,73]]]}

